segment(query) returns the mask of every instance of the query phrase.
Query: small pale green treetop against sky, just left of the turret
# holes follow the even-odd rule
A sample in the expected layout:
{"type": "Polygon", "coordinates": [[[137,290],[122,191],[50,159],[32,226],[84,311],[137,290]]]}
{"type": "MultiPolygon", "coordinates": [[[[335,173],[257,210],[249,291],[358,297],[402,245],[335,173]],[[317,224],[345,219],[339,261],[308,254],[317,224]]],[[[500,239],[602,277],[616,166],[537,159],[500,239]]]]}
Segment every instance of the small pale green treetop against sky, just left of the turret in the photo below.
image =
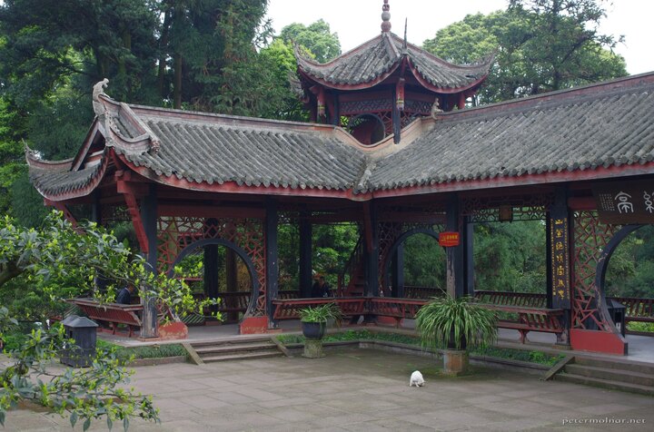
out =
{"type": "Polygon", "coordinates": [[[329,24],[322,19],[308,27],[299,23],[286,25],[279,37],[286,44],[301,45],[320,63],[329,62],[341,54],[338,34],[330,33],[329,24]]]}

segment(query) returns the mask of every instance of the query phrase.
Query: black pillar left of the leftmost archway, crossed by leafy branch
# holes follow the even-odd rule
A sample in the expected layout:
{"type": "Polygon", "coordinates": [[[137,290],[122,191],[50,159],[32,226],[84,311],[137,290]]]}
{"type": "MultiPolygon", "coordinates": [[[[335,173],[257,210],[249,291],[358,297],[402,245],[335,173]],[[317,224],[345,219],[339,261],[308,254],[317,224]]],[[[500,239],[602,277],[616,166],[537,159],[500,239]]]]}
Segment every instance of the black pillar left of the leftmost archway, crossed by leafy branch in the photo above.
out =
{"type": "MultiPolygon", "coordinates": [[[[150,184],[149,193],[141,202],[141,218],[143,219],[145,235],[148,240],[148,253],[145,257],[150,270],[156,272],[157,264],[157,191],[156,184],[150,184]]],[[[159,336],[157,322],[156,299],[142,295],[141,303],[144,306],[141,319],[141,337],[156,338],[159,336]]]]}

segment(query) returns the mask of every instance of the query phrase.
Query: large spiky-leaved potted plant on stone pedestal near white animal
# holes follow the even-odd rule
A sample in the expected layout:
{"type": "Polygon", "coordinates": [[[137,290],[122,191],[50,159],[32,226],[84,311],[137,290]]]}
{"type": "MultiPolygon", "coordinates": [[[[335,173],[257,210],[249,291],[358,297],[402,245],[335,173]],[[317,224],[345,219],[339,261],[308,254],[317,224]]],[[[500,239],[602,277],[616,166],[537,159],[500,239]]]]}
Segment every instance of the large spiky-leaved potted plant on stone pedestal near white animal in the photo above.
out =
{"type": "Polygon", "coordinates": [[[469,366],[467,349],[484,348],[497,339],[497,318],[471,297],[434,298],[416,315],[422,343],[443,348],[443,371],[460,375],[469,366]]]}

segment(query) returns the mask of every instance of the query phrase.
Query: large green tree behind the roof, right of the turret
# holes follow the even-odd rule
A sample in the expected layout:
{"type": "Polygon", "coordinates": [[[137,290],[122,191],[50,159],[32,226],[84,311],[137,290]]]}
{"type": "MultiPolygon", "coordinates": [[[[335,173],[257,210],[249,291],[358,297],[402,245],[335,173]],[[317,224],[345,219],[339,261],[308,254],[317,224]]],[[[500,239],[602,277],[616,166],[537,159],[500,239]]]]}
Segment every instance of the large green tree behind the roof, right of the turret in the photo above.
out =
{"type": "Polygon", "coordinates": [[[424,48],[470,64],[495,54],[481,103],[551,92],[627,74],[611,49],[622,41],[599,34],[597,0],[512,0],[506,12],[468,15],[437,32],[424,48]]]}

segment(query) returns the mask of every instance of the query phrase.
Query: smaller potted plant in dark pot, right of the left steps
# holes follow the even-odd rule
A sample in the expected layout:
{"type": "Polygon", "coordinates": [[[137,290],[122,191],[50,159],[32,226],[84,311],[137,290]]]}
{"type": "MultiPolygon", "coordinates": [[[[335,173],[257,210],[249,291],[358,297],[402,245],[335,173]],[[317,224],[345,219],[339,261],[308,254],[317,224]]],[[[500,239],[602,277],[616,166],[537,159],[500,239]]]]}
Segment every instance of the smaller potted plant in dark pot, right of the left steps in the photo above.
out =
{"type": "Polygon", "coordinates": [[[298,311],[302,322],[304,335],[304,354],[306,358],[324,357],[322,352],[322,337],[327,321],[333,319],[337,326],[342,322],[342,311],[336,303],[325,303],[320,306],[303,308],[298,311]]]}

